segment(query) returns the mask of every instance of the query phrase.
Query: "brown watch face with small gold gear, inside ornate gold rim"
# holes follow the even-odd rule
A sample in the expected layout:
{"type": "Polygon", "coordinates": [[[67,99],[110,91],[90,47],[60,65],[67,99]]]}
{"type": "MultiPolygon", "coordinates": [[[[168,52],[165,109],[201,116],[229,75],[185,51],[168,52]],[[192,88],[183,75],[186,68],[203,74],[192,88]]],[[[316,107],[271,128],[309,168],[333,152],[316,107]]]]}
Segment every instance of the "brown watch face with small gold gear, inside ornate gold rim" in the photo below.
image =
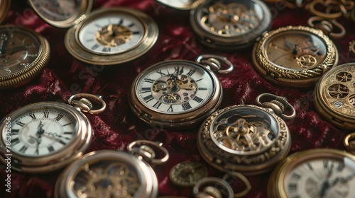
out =
{"type": "Polygon", "coordinates": [[[327,44],[319,36],[305,31],[278,33],[265,42],[265,57],[283,69],[314,69],[327,57],[327,44]]]}

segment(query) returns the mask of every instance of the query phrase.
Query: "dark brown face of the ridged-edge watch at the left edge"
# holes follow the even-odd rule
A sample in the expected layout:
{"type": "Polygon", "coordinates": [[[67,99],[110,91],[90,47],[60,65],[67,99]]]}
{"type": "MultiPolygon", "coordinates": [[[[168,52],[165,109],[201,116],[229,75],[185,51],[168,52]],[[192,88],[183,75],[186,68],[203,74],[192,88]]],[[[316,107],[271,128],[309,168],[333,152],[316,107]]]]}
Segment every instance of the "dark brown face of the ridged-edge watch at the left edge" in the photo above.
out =
{"type": "Polygon", "coordinates": [[[30,31],[0,26],[0,77],[30,69],[40,50],[38,37],[30,31]]]}

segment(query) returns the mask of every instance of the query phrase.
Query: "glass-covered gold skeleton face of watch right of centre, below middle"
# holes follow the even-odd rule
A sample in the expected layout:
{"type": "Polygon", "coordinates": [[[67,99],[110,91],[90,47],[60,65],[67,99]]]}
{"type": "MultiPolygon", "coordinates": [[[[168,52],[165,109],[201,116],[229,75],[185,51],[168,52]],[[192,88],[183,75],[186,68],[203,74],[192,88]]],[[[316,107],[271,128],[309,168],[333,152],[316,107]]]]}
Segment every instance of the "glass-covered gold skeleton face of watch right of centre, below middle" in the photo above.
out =
{"type": "Polygon", "coordinates": [[[275,144],[280,129],[275,117],[260,108],[241,106],[218,115],[210,126],[215,144],[231,153],[261,153],[275,144]]]}

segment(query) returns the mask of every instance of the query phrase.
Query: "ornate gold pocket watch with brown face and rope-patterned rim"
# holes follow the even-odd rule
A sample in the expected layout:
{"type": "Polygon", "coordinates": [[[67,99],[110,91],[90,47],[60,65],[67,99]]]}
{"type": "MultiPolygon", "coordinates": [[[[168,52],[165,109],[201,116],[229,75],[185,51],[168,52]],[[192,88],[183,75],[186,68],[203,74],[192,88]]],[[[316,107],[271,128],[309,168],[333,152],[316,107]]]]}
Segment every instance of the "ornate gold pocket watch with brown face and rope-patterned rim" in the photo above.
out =
{"type": "Polygon", "coordinates": [[[321,30],[287,26],[272,30],[253,47],[253,66],[267,81],[280,86],[315,86],[338,63],[334,42],[321,30]]]}

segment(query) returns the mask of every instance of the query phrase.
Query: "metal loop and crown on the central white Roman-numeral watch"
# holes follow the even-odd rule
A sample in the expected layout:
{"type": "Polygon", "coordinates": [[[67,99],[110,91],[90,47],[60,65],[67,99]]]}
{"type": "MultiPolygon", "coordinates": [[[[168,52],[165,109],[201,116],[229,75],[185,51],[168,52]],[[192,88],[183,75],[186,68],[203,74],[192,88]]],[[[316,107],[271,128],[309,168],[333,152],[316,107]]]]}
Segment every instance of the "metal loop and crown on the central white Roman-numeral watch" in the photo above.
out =
{"type": "Polygon", "coordinates": [[[233,71],[234,65],[226,58],[214,54],[202,54],[197,57],[196,62],[202,64],[218,74],[229,74],[233,71]],[[222,64],[226,65],[226,69],[222,69],[222,64]]]}

